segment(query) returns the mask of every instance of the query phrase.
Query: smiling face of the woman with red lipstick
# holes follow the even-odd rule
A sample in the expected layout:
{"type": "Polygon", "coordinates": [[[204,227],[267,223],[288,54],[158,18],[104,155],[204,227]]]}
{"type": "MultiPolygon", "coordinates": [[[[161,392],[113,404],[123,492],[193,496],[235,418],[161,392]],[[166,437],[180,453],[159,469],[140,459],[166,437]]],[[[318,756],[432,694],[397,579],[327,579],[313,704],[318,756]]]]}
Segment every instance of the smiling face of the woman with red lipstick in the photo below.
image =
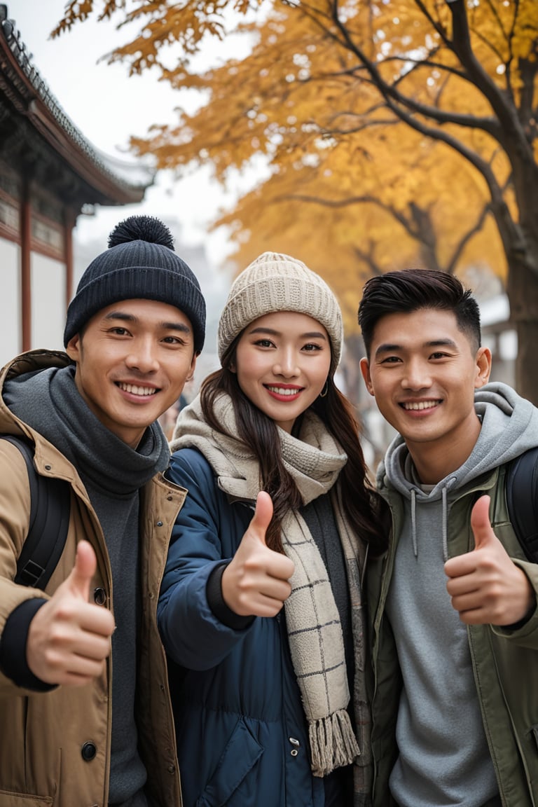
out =
{"type": "Polygon", "coordinates": [[[306,314],[276,312],[244,329],[231,370],[244,395],[291,433],[323,391],[331,366],[327,331],[306,314]]]}

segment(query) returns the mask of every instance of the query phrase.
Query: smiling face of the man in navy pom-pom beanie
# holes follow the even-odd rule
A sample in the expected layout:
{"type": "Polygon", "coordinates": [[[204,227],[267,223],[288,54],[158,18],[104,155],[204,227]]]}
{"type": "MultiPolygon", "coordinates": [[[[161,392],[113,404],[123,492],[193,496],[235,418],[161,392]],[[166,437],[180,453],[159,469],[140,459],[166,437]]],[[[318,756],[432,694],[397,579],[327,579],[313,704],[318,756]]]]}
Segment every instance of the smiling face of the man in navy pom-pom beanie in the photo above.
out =
{"type": "Polygon", "coordinates": [[[132,299],[103,308],[67,345],[75,383],[102,424],[136,448],[192,377],[193,330],[176,307],[132,299]]]}

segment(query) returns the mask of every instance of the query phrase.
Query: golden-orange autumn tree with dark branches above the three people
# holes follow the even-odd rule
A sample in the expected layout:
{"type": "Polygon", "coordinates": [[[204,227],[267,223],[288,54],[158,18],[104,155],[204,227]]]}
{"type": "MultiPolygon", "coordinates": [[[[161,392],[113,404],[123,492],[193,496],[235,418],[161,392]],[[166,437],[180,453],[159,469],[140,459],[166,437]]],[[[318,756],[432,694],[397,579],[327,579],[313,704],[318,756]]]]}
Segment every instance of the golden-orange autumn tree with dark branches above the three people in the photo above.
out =
{"type": "Polygon", "coordinates": [[[536,0],[265,0],[254,15],[241,0],[86,0],[57,31],[94,6],[139,31],[112,60],[205,99],[133,139],[139,153],[208,163],[221,182],[265,156],[267,180],[221,220],[241,262],[275,242],[310,261],[351,327],[373,271],[484,261],[507,275],[516,387],[538,403],[536,0]],[[231,9],[248,56],[197,72],[192,57],[225,36],[231,9]]]}

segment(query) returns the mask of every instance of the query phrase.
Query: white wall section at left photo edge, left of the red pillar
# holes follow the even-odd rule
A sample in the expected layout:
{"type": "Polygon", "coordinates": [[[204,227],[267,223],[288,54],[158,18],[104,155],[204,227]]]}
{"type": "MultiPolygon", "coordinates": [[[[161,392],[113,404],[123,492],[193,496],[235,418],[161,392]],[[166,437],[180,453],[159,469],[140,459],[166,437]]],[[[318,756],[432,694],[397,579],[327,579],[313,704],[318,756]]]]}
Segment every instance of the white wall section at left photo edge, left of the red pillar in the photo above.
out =
{"type": "Polygon", "coordinates": [[[20,353],[20,247],[0,238],[0,366],[20,353]]]}

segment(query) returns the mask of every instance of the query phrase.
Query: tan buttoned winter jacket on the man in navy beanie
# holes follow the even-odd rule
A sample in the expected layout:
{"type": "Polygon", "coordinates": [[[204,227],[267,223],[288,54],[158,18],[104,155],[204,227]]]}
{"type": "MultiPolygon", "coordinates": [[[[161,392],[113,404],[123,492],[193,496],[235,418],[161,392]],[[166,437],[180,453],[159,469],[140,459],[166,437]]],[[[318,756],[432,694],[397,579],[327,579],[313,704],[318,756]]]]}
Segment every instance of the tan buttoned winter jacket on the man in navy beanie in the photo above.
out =
{"type": "MultiPolygon", "coordinates": [[[[25,353],[2,370],[0,389],[6,376],[67,363],[65,353],[25,353]]],[[[40,434],[15,418],[3,401],[0,433],[31,437],[38,472],[67,479],[72,486],[65,550],[45,594],[15,585],[17,557],[28,529],[30,491],[19,449],[0,441],[0,641],[7,617],[19,604],[29,598],[50,596],[69,575],[81,538],[94,546],[98,560],[94,589],[105,590],[104,607],[113,611],[111,563],[102,529],[77,470],[40,434]]],[[[185,496],[184,489],[158,475],[144,488],[140,504],[143,603],[136,718],[152,807],[181,807],[165,651],[157,633],[156,604],[170,533],[185,496]]],[[[112,675],[109,659],[106,670],[92,684],[36,693],[16,687],[0,673],[0,807],[106,807],[112,675]],[[85,757],[91,759],[85,761],[85,757]]]]}

